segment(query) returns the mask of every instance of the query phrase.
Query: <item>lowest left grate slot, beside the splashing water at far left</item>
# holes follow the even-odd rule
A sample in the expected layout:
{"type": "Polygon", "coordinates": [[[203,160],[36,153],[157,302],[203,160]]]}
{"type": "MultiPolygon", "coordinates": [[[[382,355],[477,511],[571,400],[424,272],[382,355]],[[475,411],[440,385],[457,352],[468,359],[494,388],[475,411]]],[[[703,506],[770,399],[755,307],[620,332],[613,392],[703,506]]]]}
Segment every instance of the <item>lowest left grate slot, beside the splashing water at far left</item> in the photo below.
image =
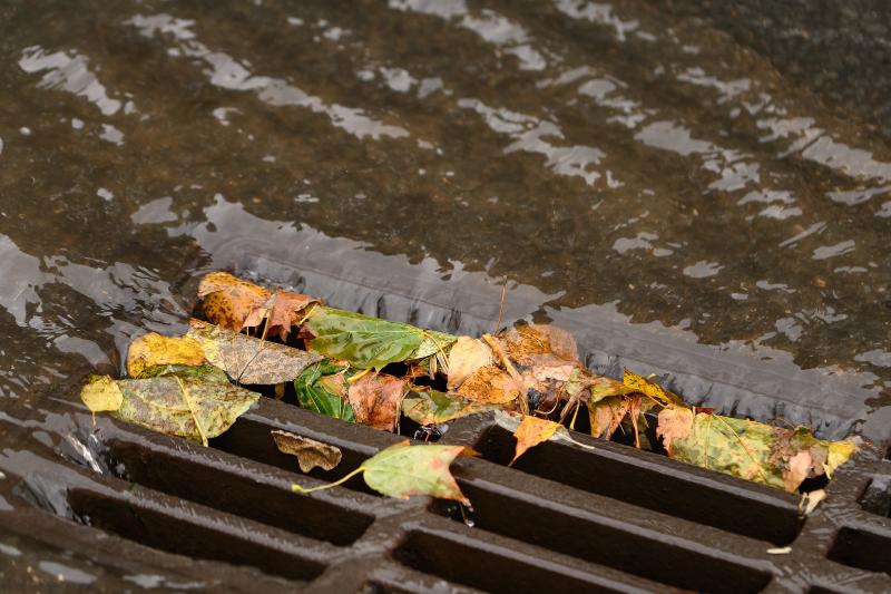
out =
{"type": "Polygon", "coordinates": [[[76,517],[90,526],[168,553],[252,565],[301,581],[313,580],[325,568],[319,561],[296,555],[287,551],[285,543],[251,532],[247,526],[227,525],[213,517],[189,522],[198,518],[194,510],[165,509],[145,505],[136,497],[116,498],[85,489],[72,489],[68,503],[76,517]],[[239,528],[243,534],[236,532],[239,528]]]}

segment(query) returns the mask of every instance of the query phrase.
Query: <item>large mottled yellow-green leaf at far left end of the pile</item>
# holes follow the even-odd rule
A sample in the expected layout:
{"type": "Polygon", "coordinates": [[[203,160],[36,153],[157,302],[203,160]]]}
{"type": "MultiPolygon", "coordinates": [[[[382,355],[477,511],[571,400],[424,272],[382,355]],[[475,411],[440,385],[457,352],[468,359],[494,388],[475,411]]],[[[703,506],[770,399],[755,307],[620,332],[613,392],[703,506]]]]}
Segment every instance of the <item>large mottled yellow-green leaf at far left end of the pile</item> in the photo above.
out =
{"type": "Polygon", "coordinates": [[[81,399],[90,410],[110,410],[125,421],[206,442],[228,429],[257,402],[260,395],[219,381],[214,368],[196,369],[206,373],[128,380],[98,378],[84,388],[81,399]],[[111,408],[118,398],[118,408],[111,408]]]}

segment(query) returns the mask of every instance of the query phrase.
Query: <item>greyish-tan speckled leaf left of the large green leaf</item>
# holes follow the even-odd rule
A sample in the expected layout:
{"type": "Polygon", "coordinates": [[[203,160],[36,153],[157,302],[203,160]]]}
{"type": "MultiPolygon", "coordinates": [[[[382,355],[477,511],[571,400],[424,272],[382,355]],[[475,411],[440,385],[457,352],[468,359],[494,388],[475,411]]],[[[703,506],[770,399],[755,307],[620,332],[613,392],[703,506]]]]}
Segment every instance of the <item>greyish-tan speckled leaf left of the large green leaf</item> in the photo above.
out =
{"type": "Polygon", "coordinates": [[[322,358],[300,349],[233,332],[192,320],[187,337],[200,344],[205,357],[238,383],[276,384],[293,381],[322,358]]]}

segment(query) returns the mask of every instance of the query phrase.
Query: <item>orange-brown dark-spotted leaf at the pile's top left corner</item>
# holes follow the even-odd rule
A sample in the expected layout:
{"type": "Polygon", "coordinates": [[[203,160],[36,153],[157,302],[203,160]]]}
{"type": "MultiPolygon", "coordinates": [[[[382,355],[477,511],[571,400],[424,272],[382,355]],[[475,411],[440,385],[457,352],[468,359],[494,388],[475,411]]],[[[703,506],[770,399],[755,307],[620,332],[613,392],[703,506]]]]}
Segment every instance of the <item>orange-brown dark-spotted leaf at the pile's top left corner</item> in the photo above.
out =
{"type": "Polygon", "coordinates": [[[271,293],[262,286],[236,279],[227,272],[212,272],[202,279],[198,296],[204,298],[204,315],[208,321],[235,332],[260,325],[271,293]]]}

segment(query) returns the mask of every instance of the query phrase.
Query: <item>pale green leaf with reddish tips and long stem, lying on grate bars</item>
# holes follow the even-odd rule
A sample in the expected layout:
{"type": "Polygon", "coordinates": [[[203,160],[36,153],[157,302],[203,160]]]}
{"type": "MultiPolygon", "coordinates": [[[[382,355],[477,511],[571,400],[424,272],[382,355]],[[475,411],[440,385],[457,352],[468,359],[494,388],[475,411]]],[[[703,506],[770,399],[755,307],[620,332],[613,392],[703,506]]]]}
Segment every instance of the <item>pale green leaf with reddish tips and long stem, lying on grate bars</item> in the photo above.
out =
{"type": "Polygon", "coordinates": [[[473,450],[463,446],[409,446],[407,439],[379,451],[340,480],[310,489],[300,485],[292,485],[291,488],[295,493],[304,494],[327,489],[363,473],[368,486],[382,495],[398,499],[408,499],[413,495],[429,495],[470,505],[458,488],[449,466],[458,456],[474,455],[473,450]]]}

